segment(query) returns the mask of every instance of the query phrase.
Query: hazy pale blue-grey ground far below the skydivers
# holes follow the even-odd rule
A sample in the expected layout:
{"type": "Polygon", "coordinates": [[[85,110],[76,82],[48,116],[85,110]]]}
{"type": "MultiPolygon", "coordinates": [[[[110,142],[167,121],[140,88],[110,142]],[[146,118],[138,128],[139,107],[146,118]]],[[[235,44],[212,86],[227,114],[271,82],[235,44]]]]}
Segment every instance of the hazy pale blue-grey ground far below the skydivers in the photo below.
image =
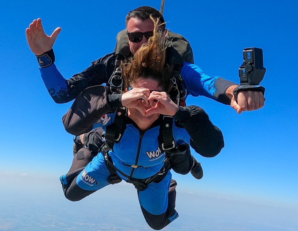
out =
{"type": "MultiPolygon", "coordinates": [[[[58,179],[1,175],[0,230],[151,230],[132,185],[111,185],[71,202],[58,179]]],[[[295,208],[187,192],[179,185],[176,210],[179,218],[163,230],[298,230],[295,208]]]]}

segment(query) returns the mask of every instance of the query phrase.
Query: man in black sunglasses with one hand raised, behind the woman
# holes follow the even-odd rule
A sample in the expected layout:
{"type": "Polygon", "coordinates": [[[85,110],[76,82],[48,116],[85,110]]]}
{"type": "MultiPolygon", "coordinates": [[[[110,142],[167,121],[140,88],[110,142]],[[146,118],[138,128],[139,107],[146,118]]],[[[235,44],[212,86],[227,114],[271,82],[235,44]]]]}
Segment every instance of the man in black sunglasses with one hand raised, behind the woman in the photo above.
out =
{"type": "MultiPolygon", "coordinates": [[[[154,29],[153,21],[150,19],[160,18],[164,23],[161,13],[153,7],[142,6],[128,13],[126,16],[126,28],[128,44],[131,56],[143,45],[148,43],[148,38],[152,36],[154,29]]],[[[165,24],[160,29],[167,35],[165,24]]],[[[36,55],[41,77],[44,84],[56,103],[66,103],[77,97],[84,89],[108,83],[114,72],[115,52],[107,54],[91,63],[83,72],[75,74],[69,79],[65,79],[54,64],[55,55],[52,46],[60,33],[61,28],[54,30],[51,36],[45,34],[41,24],[41,19],[34,20],[26,29],[27,41],[32,52],[36,55]]],[[[184,80],[187,94],[192,96],[204,95],[220,103],[229,104],[239,114],[242,111],[257,110],[264,106],[264,96],[258,91],[243,91],[238,93],[238,103],[233,96],[233,90],[238,86],[236,83],[225,80],[221,77],[210,77],[206,75],[198,66],[193,63],[184,62],[180,69],[180,76],[184,80]]],[[[80,142],[77,137],[77,142],[80,142]]],[[[85,142],[86,143],[86,142],[85,142]]],[[[171,166],[177,173],[186,174],[191,171],[196,179],[201,179],[203,171],[200,163],[190,154],[173,154],[171,166]],[[184,158],[184,159],[181,159],[184,158]],[[182,165],[184,163],[187,167],[182,165]]]]}

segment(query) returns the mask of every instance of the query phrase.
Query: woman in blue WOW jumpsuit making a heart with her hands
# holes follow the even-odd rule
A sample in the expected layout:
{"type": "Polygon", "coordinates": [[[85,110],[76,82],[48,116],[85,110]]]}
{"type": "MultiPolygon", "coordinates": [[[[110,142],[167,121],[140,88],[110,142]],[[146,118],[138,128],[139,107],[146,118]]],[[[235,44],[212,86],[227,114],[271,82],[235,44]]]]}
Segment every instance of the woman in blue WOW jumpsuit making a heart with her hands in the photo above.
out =
{"type": "Polygon", "coordinates": [[[80,135],[100,127],[106,132],[107,142],[95,157],[78,152],[60,181],[71,201],[122,179],[132,183],[145,220],[151,228],[160,230],[178,217],[177,184],[171,181],[164,152],[165,133],[170,134],[173,146],[187,143],[205,157],[216,156],[224,147],[224,140],[202,108],[177,106],[167,95],[172,77],[170,67],[164,68],[165,49],[159,41],[157,25],[155,22],[148,44],[121,66],[125,93],[112,93],[106,86],[90,87],[78,95],[63,116],[69,133],[80,135]],[[122,107],[127,111],[119,109],[122,107]],[[119,128],[121,131],[115,131],[119,128]],[[109,142],[111,131],[113,141],[109,142]]]}

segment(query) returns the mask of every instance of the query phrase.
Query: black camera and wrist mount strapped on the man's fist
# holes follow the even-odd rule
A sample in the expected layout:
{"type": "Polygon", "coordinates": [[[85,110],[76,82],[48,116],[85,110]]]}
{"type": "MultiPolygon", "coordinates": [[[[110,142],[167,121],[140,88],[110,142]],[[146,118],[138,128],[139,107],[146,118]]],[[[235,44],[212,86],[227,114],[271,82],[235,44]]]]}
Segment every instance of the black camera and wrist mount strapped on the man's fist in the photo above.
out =
{"type": "Polygon", "coordinates": [[[237,102],[237,95],[241,91],[260,91],[265,93],[265,88],[260,86],[266,68],[263,64],[263,50],[257,47],[243,49],[243,63],[239,67],[240,86],[233,91],[237,102]]]}

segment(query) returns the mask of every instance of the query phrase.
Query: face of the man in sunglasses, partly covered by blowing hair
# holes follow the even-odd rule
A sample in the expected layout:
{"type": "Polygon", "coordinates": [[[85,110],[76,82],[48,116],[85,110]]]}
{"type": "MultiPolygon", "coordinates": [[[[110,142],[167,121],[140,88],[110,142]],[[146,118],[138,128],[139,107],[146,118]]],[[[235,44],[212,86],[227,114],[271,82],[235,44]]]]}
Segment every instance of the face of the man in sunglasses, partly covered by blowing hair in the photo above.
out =
{"type": "MultiPolygon", "coordinates": [[[[128,32],[143,32],[144,33],[144,32],[153,31],[153,30],[154,30],[154,23],[150,18],[145,19],[145,20],[141,20],[138,18],[131,18],[131,19],[129,19],[129,21],[127,23],[127,31],[128,32]]],[[[131,50],[131,53],[133,53],[133,55],[136,53],[136,51],[142,45],[147,44],[147,43],[148,43],[148,40],[145,38],[144,35],[143,35],[142,40],[138,43],[131,42],[128,39],[129,48],[131,50]]]]}

